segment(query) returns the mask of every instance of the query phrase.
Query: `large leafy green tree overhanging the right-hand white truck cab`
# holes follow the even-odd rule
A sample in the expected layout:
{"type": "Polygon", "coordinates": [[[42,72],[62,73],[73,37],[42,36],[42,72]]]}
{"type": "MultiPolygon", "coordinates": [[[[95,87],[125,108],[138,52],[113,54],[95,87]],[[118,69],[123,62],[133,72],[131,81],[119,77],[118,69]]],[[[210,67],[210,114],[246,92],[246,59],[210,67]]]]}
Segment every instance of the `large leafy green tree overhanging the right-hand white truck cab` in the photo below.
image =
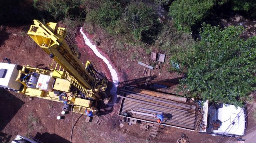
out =
{"type": "Polygon", "coordinates": [[[241,26],[202,26],[201,40],[185,58],[187,77],[181,83],[192,97],[241,106],[255,89],[256,37],[241,39],[241,26]]]}

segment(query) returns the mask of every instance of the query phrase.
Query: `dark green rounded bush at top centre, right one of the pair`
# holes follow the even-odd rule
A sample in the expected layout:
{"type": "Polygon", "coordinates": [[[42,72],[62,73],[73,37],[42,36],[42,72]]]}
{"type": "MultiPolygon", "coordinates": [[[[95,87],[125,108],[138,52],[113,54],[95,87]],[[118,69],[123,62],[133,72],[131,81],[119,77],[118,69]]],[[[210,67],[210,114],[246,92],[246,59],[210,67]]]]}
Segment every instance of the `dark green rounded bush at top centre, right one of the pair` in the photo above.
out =
{"type": "Polygon", "coordinates": [[[125,9],[125,21],[136,40],[152,42],[159,22],[152,7],[142,2],[131,3],[125,9]]]}

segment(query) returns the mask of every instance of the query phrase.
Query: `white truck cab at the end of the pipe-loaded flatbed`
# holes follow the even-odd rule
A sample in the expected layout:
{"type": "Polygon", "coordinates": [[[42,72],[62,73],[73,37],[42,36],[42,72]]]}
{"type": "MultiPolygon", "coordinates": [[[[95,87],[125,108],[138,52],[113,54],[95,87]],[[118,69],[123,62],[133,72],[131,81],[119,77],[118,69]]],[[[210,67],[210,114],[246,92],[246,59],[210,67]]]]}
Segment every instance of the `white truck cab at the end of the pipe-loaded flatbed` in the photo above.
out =
{"type": "Polygon", "coordinates": [[[209,106],[207,119],[207,133],[234,137],[245,134],[248,120],[246,108],[230,104],[209,106]]]}

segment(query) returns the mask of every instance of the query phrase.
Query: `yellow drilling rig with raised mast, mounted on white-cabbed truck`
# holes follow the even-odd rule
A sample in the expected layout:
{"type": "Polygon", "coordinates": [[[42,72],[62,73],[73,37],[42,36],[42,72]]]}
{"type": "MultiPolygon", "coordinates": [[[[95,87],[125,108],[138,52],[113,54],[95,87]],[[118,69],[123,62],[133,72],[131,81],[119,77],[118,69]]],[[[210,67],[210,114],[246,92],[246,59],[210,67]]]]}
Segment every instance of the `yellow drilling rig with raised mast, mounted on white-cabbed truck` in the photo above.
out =
{"type": "Polygon", "coordinates": [[[65,28],[57,23],[43,25],[34,20],[28,35],[53,59],[50,69],[0,62],[0,87],[28,97],[63,102],[64,109],[85,114],[97,111],[97,103],[107,88],[107,78],[90,61],[79,61],[80,53],[71,44],[65,28]]]}

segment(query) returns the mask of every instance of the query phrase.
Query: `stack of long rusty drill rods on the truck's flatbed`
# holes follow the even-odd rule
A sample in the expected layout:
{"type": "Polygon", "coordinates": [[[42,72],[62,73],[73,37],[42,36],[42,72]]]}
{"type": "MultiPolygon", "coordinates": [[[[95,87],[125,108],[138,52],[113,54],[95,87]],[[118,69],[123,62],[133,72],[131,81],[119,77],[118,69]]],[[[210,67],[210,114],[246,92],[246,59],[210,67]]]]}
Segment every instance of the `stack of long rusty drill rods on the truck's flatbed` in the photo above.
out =
{"type": "Polygon", "coordinates": [[[181,128],[195,130],[197,104],[172,101],[169,99],[135,93],[121,89],[123,96],[120,114],[146,121],[156,122],[154,114],[164,115],[162,123],[181,128]]]}

